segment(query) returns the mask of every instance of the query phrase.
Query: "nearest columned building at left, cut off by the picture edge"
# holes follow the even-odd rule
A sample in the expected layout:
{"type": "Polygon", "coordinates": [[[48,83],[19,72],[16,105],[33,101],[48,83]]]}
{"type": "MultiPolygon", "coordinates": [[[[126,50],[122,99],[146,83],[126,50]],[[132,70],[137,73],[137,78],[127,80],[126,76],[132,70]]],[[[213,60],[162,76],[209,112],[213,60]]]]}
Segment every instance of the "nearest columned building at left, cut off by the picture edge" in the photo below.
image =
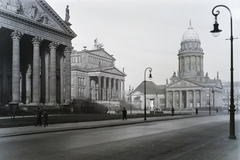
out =
{"type": "Polygon", "coordinates": [[[45,0],[0,1],[0,105],[71,102],[70,25],[45,0]]]}

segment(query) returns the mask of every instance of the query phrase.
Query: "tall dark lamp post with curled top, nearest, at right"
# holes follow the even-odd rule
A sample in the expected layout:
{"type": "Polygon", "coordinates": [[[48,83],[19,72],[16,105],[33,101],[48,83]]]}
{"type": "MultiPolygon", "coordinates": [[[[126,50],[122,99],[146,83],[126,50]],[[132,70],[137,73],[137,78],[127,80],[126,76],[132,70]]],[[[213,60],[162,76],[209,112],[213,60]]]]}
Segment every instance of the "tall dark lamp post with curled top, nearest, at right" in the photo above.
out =
{"type": "Polygon", "coordinates": [[[229,13],[230,13],[230,43],[231,43],[231,68],[230,68],[230,71],[231,71],[231,74],[230,74],[230,77],[231,77],[231,89],[230,89],[230,134],[229,134],[229,139],[236,139],[236,135],[235,135],[235,119],[234,119],[234,112],[235,112],[235,106],[234,106],[234,88],[233,88],[233,29],[232,29],[232,13],[231,13],[231,10],[225,6],[225,5],[217,5],[215,6],[213,9],[212,9],[212,14],[215,16],[215,23],[213,24],[213,27],[214,29],[212,31],[210,31],[211,33],[213,33],[214,36],[218,36],[219,33],[222,31],[220,29],[218,29],[218,23],[217,23],[217,16],[219,15],[220,11],[217,10],[216,12],[215,9],[218,8],[218,7],[224,7],[226,8],[229,13]]]}

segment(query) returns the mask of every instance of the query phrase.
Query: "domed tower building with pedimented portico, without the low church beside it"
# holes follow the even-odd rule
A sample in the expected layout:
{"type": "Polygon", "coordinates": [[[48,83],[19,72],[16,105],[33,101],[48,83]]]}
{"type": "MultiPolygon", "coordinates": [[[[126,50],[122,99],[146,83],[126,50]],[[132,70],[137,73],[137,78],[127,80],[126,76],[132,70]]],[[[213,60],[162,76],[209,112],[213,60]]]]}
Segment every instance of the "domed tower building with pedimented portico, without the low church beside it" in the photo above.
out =
{"type": "Polygon", "coordinates": [[[191,24],[182,36],[178,72],[166,84],[166,108],[222,106],[222,83],[217,73],[211,79],[203,70],[204,53],[198,33],[191,24]]]}

